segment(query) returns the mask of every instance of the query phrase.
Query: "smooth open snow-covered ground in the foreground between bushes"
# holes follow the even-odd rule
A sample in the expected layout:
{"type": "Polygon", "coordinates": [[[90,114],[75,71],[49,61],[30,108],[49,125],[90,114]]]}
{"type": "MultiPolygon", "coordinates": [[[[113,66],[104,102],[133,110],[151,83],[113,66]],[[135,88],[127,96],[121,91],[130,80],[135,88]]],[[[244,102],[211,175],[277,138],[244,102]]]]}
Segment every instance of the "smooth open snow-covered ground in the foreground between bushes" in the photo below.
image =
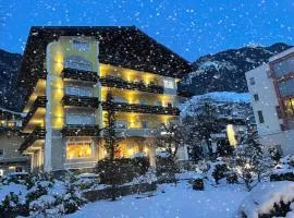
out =
{"type": "Polygon", "coordinates": [[[194,191],[187,181],[162,184],[148,197],[132,195],[119,201],[88,203],[68,218],[232,218],[242,201],[248,195],[242,185],[206,185],[205,191],[194,191]]]}

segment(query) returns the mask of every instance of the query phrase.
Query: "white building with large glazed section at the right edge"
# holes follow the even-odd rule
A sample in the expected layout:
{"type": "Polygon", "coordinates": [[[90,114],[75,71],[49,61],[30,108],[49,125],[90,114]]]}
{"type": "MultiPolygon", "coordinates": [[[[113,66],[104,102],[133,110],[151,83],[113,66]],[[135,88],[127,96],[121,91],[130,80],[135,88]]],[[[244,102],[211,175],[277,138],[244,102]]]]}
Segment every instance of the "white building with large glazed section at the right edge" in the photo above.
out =
{"type": "Polygon", "coordinates": [[[294,154],[294,48],[246,73],[261,142],[294,154]]]}

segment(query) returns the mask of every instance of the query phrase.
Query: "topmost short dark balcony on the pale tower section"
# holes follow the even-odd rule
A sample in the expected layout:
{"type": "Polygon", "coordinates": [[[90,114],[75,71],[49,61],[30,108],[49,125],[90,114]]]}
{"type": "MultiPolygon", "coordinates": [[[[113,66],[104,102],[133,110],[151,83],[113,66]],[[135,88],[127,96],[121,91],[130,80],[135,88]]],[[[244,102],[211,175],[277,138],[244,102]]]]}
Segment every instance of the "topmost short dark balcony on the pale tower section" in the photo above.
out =
{"type": "Polygon", "coordinates": [[[97,83],[98,74],[94,71],[83,71],[64,68],[61,72],[63,78],[97,83]]]}

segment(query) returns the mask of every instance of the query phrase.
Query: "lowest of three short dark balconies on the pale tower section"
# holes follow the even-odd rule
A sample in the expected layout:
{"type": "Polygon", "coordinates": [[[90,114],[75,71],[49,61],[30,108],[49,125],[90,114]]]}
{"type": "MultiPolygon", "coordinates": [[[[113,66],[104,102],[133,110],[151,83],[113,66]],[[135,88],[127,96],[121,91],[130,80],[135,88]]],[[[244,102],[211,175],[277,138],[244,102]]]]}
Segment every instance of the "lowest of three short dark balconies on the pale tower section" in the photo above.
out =
{"type": "Polygon", "coordinates": [[[68,124],[62,130],[61,133],[63,136],[100,136],[99,125],[72,125],[68,124]]]}

